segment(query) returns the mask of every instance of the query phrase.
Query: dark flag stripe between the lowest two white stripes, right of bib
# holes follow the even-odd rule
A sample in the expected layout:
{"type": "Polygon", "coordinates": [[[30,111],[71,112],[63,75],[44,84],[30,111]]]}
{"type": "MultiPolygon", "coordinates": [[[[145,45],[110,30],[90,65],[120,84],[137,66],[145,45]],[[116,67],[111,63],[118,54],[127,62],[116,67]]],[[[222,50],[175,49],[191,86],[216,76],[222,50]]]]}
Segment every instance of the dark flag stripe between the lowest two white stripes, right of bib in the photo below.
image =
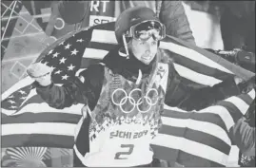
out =
{"type": "MultiPolygon", "coordinates": [[[[201,125],[201,126],[204,126],[204,125],[201,125]]],[[[215,133],[216,132],[217,131],[215,131],[215,133]]],[[[184,137],[187,140],[192,140],[195,142],[205,144],[207,146],[211,146],[212,148],[215,148],[215,149],[225,153],[226,155],[228,155],[229,151],[230,151],[230,144],[227,144],[224,140],[221,140],[221,137],[217,137],[214,135],[212,136],[210,134],[207,134],[206,132],[201,132],[201,131],[197,131],[197,130],[190,129],[190,128],[168,126],[168,125],[164,124],[161,127],[159,133],[162,133],[162,134],[164,133],[167,135],[181,137],[181,138],[184,137]]]]}

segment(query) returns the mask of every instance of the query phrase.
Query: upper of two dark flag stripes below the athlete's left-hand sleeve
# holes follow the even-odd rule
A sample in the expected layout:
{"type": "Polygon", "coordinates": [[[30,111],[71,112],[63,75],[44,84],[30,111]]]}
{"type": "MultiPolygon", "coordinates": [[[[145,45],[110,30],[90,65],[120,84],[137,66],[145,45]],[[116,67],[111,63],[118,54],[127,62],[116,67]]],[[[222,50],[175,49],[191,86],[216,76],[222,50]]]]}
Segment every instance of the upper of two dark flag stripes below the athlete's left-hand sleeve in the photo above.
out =
{"type": "Polygon", "coordinates": [[[2,124],[11,123],[33,123],[33,122],[65,122],[65,123],[77,123],[81,118],[81,115],[66,114],[59,112],[46,112],[46,113],[32,113],[26,112],[24,114],[15,116],[2,117],[2,124]]]}

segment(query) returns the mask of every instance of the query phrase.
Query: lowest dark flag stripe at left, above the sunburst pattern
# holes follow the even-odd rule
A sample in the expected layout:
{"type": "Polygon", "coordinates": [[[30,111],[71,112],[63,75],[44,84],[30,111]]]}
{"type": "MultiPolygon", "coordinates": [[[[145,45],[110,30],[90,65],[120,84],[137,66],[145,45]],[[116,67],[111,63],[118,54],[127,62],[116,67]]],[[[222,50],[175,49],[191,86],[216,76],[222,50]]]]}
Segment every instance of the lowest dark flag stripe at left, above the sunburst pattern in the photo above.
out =
{"type": "Polygon", "coordinates": [[[2,136],[2,148],[16,146],[47,146],[54,148],[72,148],[73,136],[46,135],[46,134],[14,134],[2,136]]]}

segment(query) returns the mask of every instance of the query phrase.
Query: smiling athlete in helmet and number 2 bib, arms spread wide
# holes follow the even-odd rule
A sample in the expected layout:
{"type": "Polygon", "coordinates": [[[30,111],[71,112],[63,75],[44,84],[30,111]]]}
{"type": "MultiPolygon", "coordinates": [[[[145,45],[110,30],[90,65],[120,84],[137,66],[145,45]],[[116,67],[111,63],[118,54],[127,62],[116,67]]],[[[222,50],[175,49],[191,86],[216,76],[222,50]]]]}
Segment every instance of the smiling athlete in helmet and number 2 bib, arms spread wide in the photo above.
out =
{"type": "Polygon", "coordinates": [[[119,46],[69,84],[53,84],[47,65],[37,63],[28,69],[37,93],[50,106],[86,104],[83,110],[89,120],[78,124],[74,166],[150,166],[149,144],[161,126],[164,103],[198,110],[246,88],[233,77],[212,87],[183,84],[159,49],[166,28],[151,9],[125,10],[115,23],[115,35],[119,46]]]}

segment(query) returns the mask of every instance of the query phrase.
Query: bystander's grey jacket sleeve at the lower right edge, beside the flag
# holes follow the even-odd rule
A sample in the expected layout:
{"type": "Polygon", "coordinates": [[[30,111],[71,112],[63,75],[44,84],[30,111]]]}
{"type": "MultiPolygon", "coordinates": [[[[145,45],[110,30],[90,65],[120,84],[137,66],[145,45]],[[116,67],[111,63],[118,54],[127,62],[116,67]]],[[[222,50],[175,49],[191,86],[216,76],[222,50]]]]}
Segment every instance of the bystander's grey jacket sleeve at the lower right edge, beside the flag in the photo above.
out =
{"type": "Polygon", "coordinates": [[[249,126],[245,118],[237,121],[229,131],[229,137],[246,156],[255,156],[255,127],[249,126]]]}

